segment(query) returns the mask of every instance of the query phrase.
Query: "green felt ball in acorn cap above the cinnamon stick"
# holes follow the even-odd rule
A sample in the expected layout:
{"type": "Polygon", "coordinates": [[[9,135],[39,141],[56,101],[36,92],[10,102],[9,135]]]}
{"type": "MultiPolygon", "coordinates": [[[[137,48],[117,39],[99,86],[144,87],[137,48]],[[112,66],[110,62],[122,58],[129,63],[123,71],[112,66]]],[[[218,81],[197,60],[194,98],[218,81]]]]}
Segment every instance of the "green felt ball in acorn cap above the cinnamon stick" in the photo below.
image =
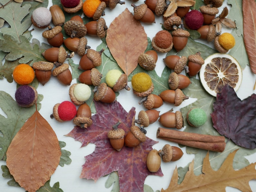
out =
{"type": "Polygon", "coordinates": [[[199,127],[206,122],[207,116],[204,110],[200,108],[194,108],[188,112],[187,120],[192,126],[199,127]]]}

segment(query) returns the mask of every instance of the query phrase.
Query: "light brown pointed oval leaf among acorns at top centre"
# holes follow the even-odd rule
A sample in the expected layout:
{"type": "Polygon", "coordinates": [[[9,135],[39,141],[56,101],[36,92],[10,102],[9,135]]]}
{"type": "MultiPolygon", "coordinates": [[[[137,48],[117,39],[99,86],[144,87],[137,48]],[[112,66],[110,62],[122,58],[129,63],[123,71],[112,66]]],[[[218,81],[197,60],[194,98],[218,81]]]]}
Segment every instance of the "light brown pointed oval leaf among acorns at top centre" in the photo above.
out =
{"type": "Polygon", "coordinates": [[[138,57],[147,48],[147,34],[141,23],[126,8],[110,24],[106,42],[111,54],[126,75],[138,65],[138,57]]]}

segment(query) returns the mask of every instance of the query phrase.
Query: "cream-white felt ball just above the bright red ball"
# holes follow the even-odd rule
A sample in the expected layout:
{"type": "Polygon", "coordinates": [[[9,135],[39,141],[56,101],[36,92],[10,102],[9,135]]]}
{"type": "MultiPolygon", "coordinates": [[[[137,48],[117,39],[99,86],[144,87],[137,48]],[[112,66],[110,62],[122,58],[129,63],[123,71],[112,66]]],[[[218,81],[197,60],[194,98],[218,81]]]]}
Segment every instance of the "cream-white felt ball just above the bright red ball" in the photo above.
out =
{"type": "Polygon", "coordinates": [[[86,101],[91,97],[91,88],[84,84],[79,83],[74,87],[74,96],[78,101],[86,101]]]}

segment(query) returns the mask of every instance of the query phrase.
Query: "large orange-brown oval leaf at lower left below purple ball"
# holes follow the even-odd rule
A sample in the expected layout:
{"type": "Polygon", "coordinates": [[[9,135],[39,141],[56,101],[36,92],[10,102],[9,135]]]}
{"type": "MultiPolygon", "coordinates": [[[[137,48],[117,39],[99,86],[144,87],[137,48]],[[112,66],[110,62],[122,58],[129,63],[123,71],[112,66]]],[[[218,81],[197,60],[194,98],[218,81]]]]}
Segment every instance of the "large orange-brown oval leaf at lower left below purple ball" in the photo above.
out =
{"type": "Polygon", "coordinates": [[[54,130],[36,110],[7,149],[6,166],[21,187],[34,192],[50,179],[60,156],[59,141],[54,130]]]}

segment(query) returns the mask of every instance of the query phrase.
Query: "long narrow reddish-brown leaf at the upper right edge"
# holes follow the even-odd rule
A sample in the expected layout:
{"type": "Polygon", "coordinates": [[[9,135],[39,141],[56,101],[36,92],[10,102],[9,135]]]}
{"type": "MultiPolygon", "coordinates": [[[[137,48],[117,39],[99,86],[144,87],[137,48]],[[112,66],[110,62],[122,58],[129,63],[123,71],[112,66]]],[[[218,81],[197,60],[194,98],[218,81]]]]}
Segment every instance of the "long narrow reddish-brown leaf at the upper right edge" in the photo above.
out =
{"type": "Polygon", "coordinates": [[[256,2],[242,1],[243,41],[248,55],[251,71],[256,74],[256,2]]]}

